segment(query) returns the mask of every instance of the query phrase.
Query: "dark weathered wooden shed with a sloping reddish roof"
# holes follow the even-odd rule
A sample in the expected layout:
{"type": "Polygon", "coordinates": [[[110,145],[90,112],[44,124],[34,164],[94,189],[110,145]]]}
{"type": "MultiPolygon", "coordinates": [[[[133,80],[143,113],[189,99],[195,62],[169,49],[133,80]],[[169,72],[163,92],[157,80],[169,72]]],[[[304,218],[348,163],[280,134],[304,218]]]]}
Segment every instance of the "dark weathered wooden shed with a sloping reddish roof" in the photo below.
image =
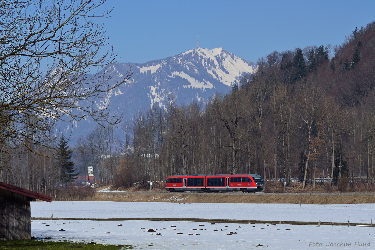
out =
{"type": "Polygon", "coordinates": [[[0,182],[0,241],[31,239],[30,201],[51,196],[0,182]]]}

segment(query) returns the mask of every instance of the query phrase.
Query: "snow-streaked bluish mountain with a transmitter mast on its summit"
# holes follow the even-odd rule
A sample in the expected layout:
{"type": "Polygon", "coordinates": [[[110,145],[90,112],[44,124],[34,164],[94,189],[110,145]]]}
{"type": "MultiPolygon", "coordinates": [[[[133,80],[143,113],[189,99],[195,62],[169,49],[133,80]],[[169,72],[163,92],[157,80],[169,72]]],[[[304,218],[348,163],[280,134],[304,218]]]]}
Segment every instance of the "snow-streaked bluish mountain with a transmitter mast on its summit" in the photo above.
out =
{"type": "MultiPolygon", "coordinates": [[[[216,92],[229,92],[234,82],[239,82],[243,74],[252,73],[255,67],[255,63],[222,48],[190,49],[174,57],[133,64],[130,79],[109,93],[107,99],[112,112],[123,110],[129,118],[140,109],[165,107],[168,95],[173,95],[177,104],[189,104],[192,100],[205,103],[216,92]]],[[[111,70],[113,78],[123,77],[129,68],[129,63],[115,64],[111,70]]],[[[95,122],[89,121],[74,124],[72,138],[90,132],[93,126],[95,122]]],[[[71,132],[67,128],[64,129],[71,132]]]]}

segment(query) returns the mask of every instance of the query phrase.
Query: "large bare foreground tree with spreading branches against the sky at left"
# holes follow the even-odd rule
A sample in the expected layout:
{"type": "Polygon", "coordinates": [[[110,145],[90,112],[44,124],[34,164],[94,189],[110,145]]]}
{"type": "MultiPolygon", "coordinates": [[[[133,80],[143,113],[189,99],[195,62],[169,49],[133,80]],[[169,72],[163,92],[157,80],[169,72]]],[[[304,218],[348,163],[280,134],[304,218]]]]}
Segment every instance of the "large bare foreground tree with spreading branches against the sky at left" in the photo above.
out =
{"type": "MultiPolygon", "coordinates": [[[[0,0],[0,151],[43,145],[57,121],[117,123],[106,94],[116,62],[97,18],[105,0],[0,0]]],[[[31,150],[31,147],[27,148],[31,150]]],[[[1,158],[4,159],[4,158],[1,158]]]]}

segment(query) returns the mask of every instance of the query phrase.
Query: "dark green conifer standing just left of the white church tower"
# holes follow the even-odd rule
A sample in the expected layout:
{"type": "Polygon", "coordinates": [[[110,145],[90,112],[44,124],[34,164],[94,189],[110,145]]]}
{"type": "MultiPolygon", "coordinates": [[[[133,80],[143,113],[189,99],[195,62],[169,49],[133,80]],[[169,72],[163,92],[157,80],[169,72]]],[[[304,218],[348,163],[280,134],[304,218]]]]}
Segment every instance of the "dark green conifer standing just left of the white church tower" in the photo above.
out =
{"type": "Polygon", "coordinates": [[[66,186],[69,182],[77,179],[78,173],[75,172],[74,162],[70,161],[73,150],[69,150],[68,141],[62,135],[56,149],[56,167],[60,172],[60,183],[66,186]]]}

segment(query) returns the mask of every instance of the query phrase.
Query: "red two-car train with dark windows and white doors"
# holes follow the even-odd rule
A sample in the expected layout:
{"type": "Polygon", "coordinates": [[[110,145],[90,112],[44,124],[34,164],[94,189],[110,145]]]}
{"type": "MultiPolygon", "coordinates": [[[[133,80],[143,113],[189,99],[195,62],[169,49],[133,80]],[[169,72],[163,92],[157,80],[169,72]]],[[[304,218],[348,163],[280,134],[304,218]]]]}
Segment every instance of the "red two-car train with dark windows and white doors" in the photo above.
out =
{"type": "Polygon", "coordinates": [[[258,174],[215,174],[169,176],[165,190],[170,192],[260,192],[264,182],[258,174]]]}

